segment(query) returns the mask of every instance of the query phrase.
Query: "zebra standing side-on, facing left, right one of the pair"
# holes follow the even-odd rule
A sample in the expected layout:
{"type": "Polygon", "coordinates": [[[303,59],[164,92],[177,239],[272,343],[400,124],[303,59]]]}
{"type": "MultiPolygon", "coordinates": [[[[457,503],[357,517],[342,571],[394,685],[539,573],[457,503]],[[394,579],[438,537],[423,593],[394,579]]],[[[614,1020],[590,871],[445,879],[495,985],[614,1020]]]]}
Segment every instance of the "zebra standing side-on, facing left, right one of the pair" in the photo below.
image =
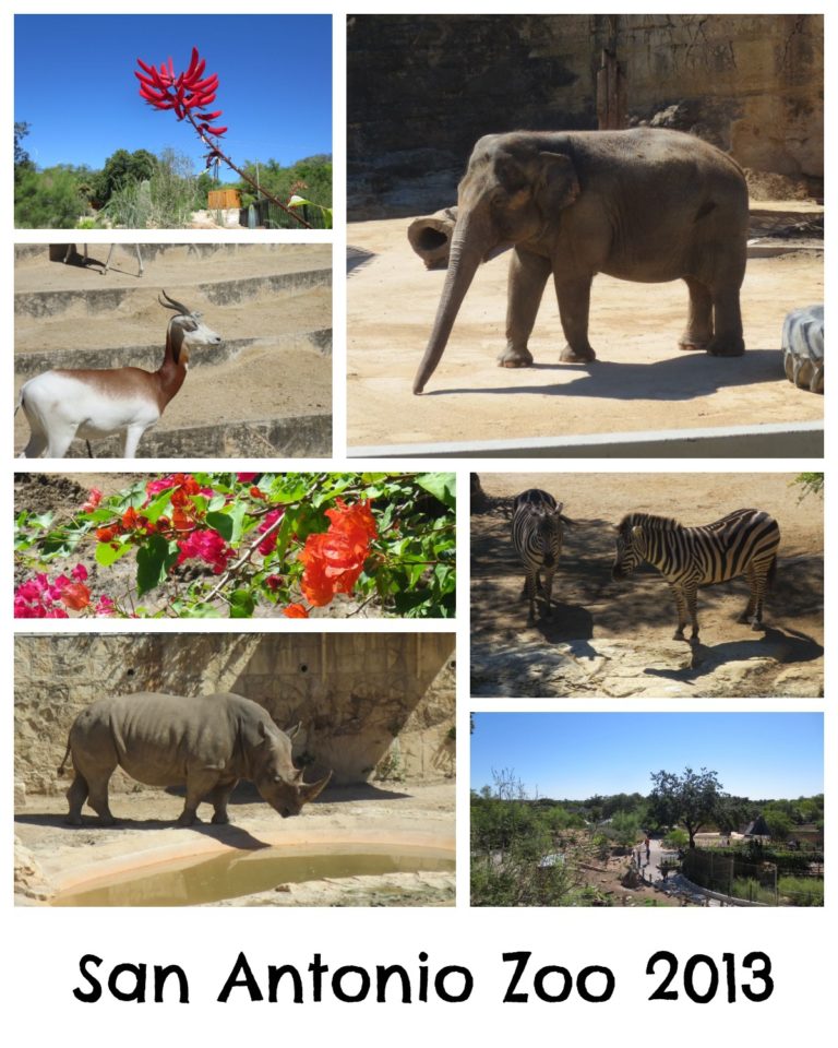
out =
{"type": "Polygon", "coordinates": [[[675,596],[678,629],[683,641],[687,612],[692,640],[698,640],[695,597],[698,586],[745,575],[751,594],[740,622],[762,630],[763,600],[774,582],[780,528],[764,510],[734,510],[713,524],[684,527],[649,513],[628,513],[616,526],[616,552],[611,575],[624,579],[646,560],[660,571],[675,596]]]}

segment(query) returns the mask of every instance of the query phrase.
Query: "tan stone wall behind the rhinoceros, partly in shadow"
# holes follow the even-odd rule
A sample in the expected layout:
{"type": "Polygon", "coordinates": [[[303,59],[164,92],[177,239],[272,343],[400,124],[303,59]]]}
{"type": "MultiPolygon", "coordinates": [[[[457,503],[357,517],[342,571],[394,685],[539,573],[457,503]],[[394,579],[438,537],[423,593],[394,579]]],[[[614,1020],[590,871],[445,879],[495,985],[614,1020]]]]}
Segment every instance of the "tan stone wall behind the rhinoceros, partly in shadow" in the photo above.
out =
{"type": "MultiPolygon", "coordinates": [[[[454,774],[451,633],[19,634],[15,781],[57,793],[67,735],[96,699],[133,691],[234,691],[302,729],[295,758],[337,785],[454,774]]],[[[307,777],[309,777],[307,775],[307,777]]],[[[134,788],[121,774],[115,789],[134,788]]]]}

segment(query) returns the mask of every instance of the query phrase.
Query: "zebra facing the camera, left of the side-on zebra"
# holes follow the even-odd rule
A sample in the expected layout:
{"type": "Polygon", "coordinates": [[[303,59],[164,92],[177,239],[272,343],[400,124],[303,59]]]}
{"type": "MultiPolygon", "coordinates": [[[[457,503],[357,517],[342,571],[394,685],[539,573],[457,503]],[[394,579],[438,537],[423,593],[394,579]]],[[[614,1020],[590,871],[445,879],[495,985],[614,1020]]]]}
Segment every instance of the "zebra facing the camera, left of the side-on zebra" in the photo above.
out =
{"type": "Polygon", "coordinates": [[[512,544],[524,564],[524,595],[529,598],[531,626],[536,620],[536,594],[544,598],[544,618],[551,615],[553,575],[562,553],[562,524],[571,524],[562,513],[563,503],[547,491],[528,488],[512,504],[512,544]],[[541,572],[543,571],[543,583],[541,572]]]}

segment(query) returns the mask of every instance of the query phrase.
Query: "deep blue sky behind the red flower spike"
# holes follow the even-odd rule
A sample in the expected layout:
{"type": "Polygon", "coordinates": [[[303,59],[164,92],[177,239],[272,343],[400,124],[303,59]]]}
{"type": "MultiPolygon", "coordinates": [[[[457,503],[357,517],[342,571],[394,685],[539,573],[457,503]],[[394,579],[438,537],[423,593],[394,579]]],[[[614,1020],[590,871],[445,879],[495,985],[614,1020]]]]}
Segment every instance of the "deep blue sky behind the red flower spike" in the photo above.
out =
{"type": "MultiPolygon", "coordinates": [[[[136,59],[176,72],[192,47],[218,73],[225,151],[241,164],[289,165],[332,152],[332,20],[328,15],[16,15],[14,119],[38,167],[103,166],[118,148],[171,146],[203,169],[194,131],[137,94],[136,59]],[[48,70],[45,75],[44,71],[48,70]]],[[[235,178],[230,174],[231,178],[235,178]]],[[[224,178],[224,171],[222,171],[224,178]]]]}

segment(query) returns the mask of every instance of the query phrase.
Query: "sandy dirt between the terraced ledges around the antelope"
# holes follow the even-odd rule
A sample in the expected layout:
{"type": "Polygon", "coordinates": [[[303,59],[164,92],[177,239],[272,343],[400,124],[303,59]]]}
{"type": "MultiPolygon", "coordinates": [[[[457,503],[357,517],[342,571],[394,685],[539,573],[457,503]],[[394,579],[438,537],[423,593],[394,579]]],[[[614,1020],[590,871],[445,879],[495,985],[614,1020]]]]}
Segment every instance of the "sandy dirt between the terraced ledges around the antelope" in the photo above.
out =
{"type": "MultiPolygon", "coordinates": [[[[159,345],[159,360],[170,317],[157,303],[159,290],[204,313],[204,321],[225,341],[254,340],[231,359],[207,365],[201,348],[192,350],[190,370],[178,395],[166,407],[155,433],[194,426],[224,426],[259,419],[331,415],[332,357],[307,340],[309,332],[332,327],[332,289],[327,286],[276,293],[263,288],[240,301],[214,305],[214,284],[231,279],[291,274],[331,266],[330,245],[283,245],[265,252],[254,246],[249,253],[239,247],[235,254],[188,259],[159,255],[146,262],[142,277],[130,251],[119,249],[119,266],[105,276],[92,266],[63,265],[48,261],[47,247],[37,255],[19,259],[15,294],[35,291],[101,291],[129,288],[131,297],[117,308],[88,313],[82,301],[56,315],[15,318],[15,356],[47,354],[58,367],[79,367],[72,354],[79,349],[124,347],[119,366],[133,366],[136,347],[159,345]],[[283,250],[285,249],[285,250],[283,250]],[[62,360],[62,355],[69,358],[62,360]]],[[[107,246],[91,245],[96,258],[107,257],[107,246]]],[[[155,358],[156,359],[156,358],[155,358]]],[[[107,361],[103,366],[116,366],[107,361]]],[[[21,369],[22,371],[22,369],[21,369]]],[[[29,373],[15,376],[15,395],[29,373]]],[[[15,454],[25,446],[29,429],[23,412],[14,422],[15,454]]],[[[95,449],[94,449],[95,452],[95,449]]],[[[140,445],[142,454],[142,442],[140,445]]],[[[268,456],[270,445],[253,453],[268,456]]],[[[196,450],[200,455],[200,450],[196,450]]]]}

